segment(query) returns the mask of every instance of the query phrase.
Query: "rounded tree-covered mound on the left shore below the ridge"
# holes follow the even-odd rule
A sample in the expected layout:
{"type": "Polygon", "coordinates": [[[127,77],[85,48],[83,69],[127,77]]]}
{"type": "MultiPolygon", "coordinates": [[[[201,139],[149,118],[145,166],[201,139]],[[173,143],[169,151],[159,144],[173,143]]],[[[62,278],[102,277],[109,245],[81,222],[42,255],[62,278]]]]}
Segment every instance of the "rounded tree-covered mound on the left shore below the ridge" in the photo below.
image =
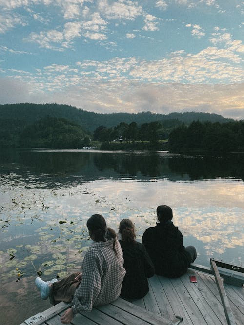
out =
{"type": "Polygon", "coordinates": [[[44,117],[24,128],[20,147],[82,148],[87,135],[81,126],[65,118],[44,117]]]}

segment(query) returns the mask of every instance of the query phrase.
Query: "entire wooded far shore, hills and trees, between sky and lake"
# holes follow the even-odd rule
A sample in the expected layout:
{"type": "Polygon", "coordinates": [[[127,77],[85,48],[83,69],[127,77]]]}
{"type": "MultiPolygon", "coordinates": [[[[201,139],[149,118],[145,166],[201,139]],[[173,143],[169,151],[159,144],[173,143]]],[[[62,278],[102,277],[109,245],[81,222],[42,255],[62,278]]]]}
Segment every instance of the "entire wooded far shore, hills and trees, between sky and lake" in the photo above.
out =
{"type": "Polygon", "coordinates": [[[102,149],[150,150],[167,149],[159,141],[167,139],[172,152],[244,151],[244,121],[197,112],[98,114],[58,104],[0,105],[0,147],[73,149],[94,146],[92,140],[102,149]]]}

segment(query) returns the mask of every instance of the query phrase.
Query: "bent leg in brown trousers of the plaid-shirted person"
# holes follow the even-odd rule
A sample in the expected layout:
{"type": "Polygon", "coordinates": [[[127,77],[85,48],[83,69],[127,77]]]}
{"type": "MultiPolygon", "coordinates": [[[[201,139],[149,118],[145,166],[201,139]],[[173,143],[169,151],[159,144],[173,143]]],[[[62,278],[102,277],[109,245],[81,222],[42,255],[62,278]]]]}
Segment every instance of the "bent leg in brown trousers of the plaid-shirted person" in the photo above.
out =
{"type": "Polygon", "coordinates": [[[58,282],[51,285],[49,299],[51,304],[55,305],[61,301],[70,303],[73,299],[75,290],[79,287],[81,280],[75,280],[80,273],[72,273],[58,282]]]}

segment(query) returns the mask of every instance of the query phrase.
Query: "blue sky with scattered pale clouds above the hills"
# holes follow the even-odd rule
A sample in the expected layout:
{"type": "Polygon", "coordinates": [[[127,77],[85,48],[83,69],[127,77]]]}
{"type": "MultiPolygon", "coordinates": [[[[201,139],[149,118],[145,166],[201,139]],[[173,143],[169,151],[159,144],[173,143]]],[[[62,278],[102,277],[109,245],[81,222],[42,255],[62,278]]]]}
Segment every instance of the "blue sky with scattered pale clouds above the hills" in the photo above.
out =
{"type": "Polygon", "coordinates": [[[0,0],[0,104],[244,119],[243,0],[0,0]]]}

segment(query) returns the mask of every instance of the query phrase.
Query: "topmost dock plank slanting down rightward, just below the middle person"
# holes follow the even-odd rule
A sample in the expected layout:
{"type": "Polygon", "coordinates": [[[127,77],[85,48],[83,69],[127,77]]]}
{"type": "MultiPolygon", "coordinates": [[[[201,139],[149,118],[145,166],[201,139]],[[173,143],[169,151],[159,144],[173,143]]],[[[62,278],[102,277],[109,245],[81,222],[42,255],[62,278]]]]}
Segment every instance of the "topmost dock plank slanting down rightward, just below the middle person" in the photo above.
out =
{"type": "Polygon", "coordinates": [[[124,311],[127,311],[129,314],[135,315],[136,317],[147,321],[149,324],[168,325],[170,321],[168,319],[165,319],[164,317],[154,315],[150,311],[145,311],[142,308],[128,303],[126,300],[120,298],[112,302],[110,305],[116,306],[124,311]]]}

